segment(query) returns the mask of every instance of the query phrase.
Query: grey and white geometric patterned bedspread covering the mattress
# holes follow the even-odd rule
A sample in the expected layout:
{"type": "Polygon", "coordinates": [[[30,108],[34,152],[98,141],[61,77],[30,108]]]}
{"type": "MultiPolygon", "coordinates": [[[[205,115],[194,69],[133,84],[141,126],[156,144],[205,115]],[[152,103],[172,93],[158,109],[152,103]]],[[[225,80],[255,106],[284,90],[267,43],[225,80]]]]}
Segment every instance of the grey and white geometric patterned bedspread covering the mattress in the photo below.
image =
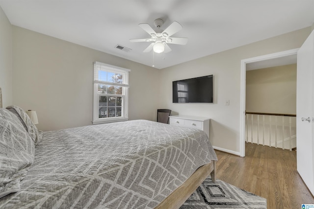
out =
{"type": "Polygon", "coordinates": [[[147,120],[44,132],[0,208],[154,208],[211,160],[203,131],[147,120]]]}

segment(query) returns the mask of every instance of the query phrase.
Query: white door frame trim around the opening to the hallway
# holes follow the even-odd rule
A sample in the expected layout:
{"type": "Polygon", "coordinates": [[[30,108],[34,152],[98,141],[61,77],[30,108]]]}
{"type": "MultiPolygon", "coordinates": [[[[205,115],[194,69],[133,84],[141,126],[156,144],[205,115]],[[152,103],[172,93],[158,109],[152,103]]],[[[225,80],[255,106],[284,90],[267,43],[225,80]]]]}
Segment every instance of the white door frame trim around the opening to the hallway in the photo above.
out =
{"type": "Polygon", "coordinates": [[[245,157],[245,93],[246,93],[246,64],[264,60],[276,59],[288,55],[297,54],[299,48],[280,51],[272,54],[252,57],[241,60],[240,70],[240,156],[245,157]]]}

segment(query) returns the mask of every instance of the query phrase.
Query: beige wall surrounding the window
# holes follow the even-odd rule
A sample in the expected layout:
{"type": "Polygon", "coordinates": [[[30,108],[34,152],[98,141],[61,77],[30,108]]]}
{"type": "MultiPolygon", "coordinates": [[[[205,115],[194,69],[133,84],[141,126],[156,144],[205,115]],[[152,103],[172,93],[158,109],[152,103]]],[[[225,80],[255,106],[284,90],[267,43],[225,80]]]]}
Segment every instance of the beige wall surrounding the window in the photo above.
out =
{"type": "Polygon", "coordinates": [[[91,125],[93,62],[131,69],[129,118],[156,120],[159,71],[12,26],[13,104],[37,112],[40,130],[91,125]]]}

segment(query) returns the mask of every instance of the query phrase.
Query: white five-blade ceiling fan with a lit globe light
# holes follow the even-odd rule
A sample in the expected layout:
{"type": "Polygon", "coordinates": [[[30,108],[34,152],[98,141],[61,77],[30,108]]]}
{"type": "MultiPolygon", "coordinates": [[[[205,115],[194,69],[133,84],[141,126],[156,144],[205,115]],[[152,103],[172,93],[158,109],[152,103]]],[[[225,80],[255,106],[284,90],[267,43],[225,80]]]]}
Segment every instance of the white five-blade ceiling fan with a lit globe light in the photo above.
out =
{"type": "MultiPolygon", "coordinates": [[[[163,24],[163,20],[156,19],[154,21],[154,25],[157,28],[163,24]]],[[[156,53],[161,52],[169,52],[171,48],[168,44],[179,44],[179,45],[186,45],[187,38],[175,38],[171,37],[173,34],[179,32],[183,27],[177,21],[171,23],[163,32],[157,33],[155,30],[148,24],[148,23],[140,23],[138,24],[143,30],[145,30],[151,38],[147,39],[130,39],[130,42],[153,42],[150,44],[143,52],[150,52],[152,49],[156,53]]]]}

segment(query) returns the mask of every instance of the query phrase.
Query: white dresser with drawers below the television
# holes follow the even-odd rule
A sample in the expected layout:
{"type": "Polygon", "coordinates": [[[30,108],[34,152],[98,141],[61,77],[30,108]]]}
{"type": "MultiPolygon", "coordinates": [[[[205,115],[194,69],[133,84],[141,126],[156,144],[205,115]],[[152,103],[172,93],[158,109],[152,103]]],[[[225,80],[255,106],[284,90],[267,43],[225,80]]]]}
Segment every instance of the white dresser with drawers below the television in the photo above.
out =
{"type": "Polygon", "coordinates": [[[170,124],[183,125],[203,130],[209,137],[209,120],[208,117],[198,116],[169,116],[170,124]]]}

